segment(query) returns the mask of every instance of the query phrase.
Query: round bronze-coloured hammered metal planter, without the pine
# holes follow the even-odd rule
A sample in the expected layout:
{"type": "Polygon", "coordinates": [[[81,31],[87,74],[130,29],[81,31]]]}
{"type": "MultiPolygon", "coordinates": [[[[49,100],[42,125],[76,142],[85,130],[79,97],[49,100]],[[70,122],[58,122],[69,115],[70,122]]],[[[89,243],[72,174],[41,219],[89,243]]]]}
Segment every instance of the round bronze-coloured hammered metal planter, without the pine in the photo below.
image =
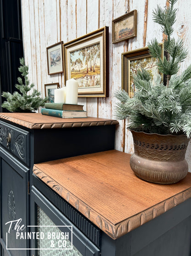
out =
{"type": "Polygon", "coordinates": [[[188,173],[185,152],[189,140],[185,135],[159,135],[131,130],[135,153],[130,167],[146,181],[173,184],[188,173]]]}

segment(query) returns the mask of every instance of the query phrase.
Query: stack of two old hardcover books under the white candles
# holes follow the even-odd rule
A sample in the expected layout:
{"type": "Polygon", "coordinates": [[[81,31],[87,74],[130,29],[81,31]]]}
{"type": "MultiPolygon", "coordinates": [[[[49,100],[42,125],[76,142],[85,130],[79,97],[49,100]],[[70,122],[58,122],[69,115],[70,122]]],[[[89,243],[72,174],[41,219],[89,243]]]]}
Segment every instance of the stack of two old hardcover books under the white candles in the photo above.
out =
{"type": "Polygon", "coordinates": [[[45,108],[41,109],[43,115],[60,118],[84,118],[87,111],[83,110],[84,105],[45,103],[45,108]]]}

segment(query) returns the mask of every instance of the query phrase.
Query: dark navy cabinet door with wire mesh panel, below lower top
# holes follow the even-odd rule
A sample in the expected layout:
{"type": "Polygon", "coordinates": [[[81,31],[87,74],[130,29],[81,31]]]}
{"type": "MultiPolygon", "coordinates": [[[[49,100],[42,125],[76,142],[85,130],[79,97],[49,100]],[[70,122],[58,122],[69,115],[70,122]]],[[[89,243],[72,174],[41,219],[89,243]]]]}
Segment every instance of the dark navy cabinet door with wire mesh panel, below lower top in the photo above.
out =
{"type": "Polygon", "coordinates": [[[31,232],[42,234],[38,240],[31,240],[33,256],[100,256],[99,248],[34,186],[31,189],[31,225],[31,232]],[[66,233],[69,235],[62,237],[66,233]]]}

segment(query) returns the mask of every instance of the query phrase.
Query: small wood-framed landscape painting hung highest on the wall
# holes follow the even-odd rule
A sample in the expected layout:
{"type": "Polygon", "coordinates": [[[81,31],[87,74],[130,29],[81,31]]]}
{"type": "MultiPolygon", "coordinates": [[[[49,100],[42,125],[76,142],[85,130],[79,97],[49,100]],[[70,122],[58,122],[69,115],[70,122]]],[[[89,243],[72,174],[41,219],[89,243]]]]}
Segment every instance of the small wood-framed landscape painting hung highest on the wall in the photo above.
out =
{"type": "Polygon", "coordinates": [[[137,10],[112,20],[112,43],[137,36],[137,10]]]}

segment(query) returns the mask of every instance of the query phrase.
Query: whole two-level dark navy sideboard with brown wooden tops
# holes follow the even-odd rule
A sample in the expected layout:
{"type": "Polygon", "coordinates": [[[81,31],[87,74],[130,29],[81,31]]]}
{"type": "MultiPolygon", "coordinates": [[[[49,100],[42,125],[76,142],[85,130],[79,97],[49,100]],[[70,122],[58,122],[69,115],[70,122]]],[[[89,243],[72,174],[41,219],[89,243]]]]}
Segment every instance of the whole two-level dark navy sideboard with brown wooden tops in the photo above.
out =
{"type": "Polygon", "coordinates": [[[173,185],[137,178],[114,149],[117,124],[0,113],[1,255],[191,255],[191,173],[173,185]],[[18,219],[28,233],[73,227],[73,240],[15,239],[18,219]]]}

